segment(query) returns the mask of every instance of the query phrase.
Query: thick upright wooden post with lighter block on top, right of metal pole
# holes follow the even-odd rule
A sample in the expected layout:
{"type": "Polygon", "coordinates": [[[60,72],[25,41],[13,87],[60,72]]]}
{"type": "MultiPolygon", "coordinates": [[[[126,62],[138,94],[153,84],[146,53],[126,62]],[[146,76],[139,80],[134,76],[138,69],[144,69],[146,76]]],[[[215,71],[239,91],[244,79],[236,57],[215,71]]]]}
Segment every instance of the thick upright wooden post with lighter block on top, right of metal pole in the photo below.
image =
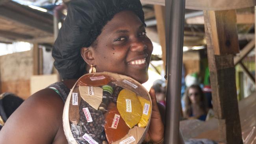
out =
{"type": "Polygon", "coordinates": [[[204,21],[219,141],[242,144],[234,68],[234,54],[239,52],[236,11],[204,11],[204,21]]]}

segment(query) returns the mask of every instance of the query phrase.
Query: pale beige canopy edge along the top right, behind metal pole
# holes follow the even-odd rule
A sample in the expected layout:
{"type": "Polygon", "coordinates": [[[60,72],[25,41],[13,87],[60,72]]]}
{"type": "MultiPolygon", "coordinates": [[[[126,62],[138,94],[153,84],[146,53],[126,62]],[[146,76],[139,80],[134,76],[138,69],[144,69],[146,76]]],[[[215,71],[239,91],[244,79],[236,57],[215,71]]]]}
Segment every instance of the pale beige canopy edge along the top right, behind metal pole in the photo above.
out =
{"type": "MultiPolygon", "coordinates": [[[[144,4],[165,5],[165,0],[141,0],[144,4]]],[[[186,9],[228,10],[252,7],[256,0],[186,0],[186,9]]]]}

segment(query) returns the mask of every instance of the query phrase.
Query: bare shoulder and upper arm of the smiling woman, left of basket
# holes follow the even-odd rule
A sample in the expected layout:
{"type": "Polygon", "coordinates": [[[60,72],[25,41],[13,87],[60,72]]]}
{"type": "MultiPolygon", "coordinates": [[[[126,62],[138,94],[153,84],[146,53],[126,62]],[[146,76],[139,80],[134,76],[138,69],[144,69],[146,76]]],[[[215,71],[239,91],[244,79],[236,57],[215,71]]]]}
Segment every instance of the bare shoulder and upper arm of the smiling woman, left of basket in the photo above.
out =
{"type": "Polygon", "coordinates": [[[0,144],[67,143],[62,127],[63,106],[53,90],[36,92],[9,117],[0,131],[0,144]]]}

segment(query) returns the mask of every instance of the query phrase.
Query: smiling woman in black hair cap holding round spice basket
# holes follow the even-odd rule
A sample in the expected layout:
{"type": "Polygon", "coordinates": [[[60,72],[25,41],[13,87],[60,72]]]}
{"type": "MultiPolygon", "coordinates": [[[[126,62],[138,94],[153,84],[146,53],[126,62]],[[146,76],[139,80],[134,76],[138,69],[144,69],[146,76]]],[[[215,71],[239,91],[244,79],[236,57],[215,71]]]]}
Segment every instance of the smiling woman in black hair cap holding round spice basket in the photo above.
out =
{"type": "MultiPolygon", "coordinates": [[[[148,79],[152,42],[139,0],[72,0],[54,44],[54,66],[63,81],[26,100],[0,131],[0,144],[67,144],[62,124],[70,89],[93,65],[140,83],[148,79]]],[[[154,90],[145,142],[163,143],[163,123],[154,90]]]]}

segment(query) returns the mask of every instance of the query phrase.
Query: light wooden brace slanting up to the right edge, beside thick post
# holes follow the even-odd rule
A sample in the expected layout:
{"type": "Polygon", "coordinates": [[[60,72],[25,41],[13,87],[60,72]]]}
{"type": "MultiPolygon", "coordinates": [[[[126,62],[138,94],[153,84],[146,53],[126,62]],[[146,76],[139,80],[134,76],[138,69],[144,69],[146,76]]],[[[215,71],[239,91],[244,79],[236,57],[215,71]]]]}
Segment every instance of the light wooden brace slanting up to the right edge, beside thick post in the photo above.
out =
{"type": "Polygon", "coordinates": [[[237,54],[234,57],[234,64],[237,65],[240,61],[242,61],[243,58],[245,58],[250,51],[254,49],[255,46],[255,40],[251,40],[242,50],[239,54],[237,54]]]}

